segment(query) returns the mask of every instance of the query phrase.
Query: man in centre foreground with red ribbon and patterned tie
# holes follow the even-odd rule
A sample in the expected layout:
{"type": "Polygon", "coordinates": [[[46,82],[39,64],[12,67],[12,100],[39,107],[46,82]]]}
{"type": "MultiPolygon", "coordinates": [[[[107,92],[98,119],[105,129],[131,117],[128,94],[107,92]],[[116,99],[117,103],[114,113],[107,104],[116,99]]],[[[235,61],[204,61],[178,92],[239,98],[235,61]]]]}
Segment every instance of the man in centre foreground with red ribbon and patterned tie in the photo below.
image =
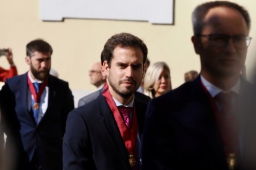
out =
{"type": "Polygon", "coordinates": [[[140,168],[140,142],[149,97],[136,92],[147,46],[129,33],[115,34],[101,52],[105,91],[67,118],[64,169],[140,168]]]}

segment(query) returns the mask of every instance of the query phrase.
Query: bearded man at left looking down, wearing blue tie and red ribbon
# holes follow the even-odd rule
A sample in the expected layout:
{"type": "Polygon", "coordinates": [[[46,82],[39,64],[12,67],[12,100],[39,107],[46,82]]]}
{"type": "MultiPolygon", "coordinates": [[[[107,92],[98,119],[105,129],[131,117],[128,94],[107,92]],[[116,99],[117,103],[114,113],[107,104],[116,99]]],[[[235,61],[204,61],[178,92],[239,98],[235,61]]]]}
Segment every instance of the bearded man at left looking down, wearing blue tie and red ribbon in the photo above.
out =
{"type": "Polygon", "coordinates": [[[52,53],[42,39],[29,42],[30,70],[7,79],[0,92],[7,169],[62,169],[62,137],[74,99],[67,82],[49,75],[52,53]]]}

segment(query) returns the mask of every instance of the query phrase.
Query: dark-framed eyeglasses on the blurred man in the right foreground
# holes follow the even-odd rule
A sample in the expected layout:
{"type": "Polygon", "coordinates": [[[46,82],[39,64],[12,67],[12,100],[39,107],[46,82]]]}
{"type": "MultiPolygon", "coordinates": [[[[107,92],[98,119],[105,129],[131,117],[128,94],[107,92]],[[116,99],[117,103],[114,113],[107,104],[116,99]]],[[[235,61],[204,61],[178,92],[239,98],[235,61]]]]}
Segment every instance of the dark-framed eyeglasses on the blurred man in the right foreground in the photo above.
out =
{"type": "Polygon", "coordinates": [[[250,40],[252,39],[249,36],[229,36],[227,34],[199,34],[197,36],[208,38],[211,44],[215,47],[225,47],[228,44],[229,39],[231,38],[234,47],[236,47],[237,49],[246,49],[250,45],[250,40]]]}

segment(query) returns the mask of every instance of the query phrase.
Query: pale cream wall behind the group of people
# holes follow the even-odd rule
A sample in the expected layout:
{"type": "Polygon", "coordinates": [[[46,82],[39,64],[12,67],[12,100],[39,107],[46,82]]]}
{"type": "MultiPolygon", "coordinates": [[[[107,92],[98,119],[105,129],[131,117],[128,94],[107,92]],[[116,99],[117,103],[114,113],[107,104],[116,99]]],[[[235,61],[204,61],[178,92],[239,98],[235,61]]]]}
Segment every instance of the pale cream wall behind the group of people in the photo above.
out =
{"type": "MultiPolygon", "coordinates": [[[[129,1],[127,1],[129,2],[129,1]]],[[[106,40],[113,34],[129,32],[139,36],[148,46],[151,62],[165,61],[171,68],[173,87],[184,82],[188,70],[200,71],[200,61],[190,41],[191,13],[203,0],[176,0],[174,25],[153,25],[149,22],[117,20],[65,19],[64,22],[40,20],[39,0],[0,1],[0,47],[11,47],[19,73],[28,70],[25,46],[35,38],[43,38],[54,49],[52,66],[59,78],[69,81],[73,90],[95,91],[90,85],[88,70],[100,60],[106,40]]],[[[247,70],[255,63],[256,1],[237,0],[252,17],[252,43],[248,49],[247,70]]],[[[54,9],[53,9],[54,10],[54,9]]],[[[6,59],[0,65],[8,67],[6,59]]]]}

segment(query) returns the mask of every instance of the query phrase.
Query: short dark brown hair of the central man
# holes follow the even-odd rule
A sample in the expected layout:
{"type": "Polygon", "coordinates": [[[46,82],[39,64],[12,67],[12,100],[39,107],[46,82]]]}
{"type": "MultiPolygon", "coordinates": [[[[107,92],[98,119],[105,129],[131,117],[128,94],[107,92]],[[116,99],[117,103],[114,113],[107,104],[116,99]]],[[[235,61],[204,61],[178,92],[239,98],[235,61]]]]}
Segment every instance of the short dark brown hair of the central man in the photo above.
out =
{"type": "Polygon", "coordinates": [[[101,65],[106,60],[111,65],[111,60],[113,59],[113,51],[117,47],[139,47],[143,54],[143,63],[147,60],[148,49],[146,44],[137,36],[130,33],[119,33],[114,34],[106,42],[103,51],[101,52],[101,65]]]}

